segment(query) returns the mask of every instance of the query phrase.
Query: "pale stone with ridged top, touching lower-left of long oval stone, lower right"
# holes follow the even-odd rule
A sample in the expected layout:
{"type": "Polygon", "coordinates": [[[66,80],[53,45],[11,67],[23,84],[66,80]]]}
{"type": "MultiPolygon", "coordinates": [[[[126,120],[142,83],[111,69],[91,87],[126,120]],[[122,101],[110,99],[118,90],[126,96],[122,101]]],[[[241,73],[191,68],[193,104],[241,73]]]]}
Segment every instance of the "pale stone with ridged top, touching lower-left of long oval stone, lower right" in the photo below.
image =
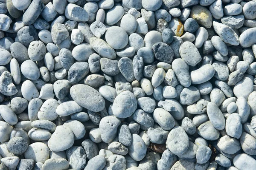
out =
{"type": "Polygon", "coordinates": [[[198,127],[198,134],[209,141],[216,140],[220,136],[219,131],[215,129],[210,121],[207,121],[198,127]]]}

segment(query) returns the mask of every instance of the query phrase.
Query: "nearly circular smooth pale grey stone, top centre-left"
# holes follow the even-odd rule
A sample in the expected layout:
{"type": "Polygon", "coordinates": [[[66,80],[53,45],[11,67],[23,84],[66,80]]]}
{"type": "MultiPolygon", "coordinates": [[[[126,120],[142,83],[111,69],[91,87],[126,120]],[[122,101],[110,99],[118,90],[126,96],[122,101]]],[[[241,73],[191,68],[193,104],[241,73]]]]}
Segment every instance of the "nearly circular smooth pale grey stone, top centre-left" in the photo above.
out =
{"type": "Polygon", "coordinates": [[[123,28],[118,26],[108,28],[105,34],[105,39],[106,42],[108,42],[108,45],[116,50],[125,48],[128,44],[128,34],[123,28]]]}

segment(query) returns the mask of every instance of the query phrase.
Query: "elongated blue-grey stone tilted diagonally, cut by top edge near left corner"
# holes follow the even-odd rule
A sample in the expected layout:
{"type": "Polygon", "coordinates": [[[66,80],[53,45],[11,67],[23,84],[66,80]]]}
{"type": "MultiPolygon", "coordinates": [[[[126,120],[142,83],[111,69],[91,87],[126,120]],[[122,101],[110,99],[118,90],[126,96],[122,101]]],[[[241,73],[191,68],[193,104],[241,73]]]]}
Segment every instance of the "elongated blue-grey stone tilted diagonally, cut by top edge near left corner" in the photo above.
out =
{"type": "Polygon", "coordinates": [[[31,25],[39,17],[44,9],[44,3],[41,0],[33,0],[23,14],[22,22],[25,25],[31,25]]]}

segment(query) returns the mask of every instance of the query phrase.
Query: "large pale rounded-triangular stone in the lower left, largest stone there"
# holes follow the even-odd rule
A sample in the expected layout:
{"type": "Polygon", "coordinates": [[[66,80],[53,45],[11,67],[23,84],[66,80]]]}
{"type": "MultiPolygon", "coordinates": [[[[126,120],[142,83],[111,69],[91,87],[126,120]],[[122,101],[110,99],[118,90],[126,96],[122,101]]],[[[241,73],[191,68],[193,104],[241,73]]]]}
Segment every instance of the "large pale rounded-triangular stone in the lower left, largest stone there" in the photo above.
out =
{"type": "Polygon", "coordinates": [[[48,141],[48,147],[52,151],[60,152],[72,147],[74,141],[75,139],[72,130],[69,127],[60,125],[57,126],[55,132],[52,133],[52,136],[48,141]]]}

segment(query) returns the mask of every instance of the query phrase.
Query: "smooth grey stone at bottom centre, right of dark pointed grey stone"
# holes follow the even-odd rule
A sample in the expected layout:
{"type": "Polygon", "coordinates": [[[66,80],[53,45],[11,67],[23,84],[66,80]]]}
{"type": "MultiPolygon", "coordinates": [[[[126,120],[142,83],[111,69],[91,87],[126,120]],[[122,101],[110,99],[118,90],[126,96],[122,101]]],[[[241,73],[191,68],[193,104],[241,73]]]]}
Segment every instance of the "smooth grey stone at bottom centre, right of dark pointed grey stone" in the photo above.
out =
{"type": "Polygon", "coordinates": [[[146,155],[146,147],[143,139],[139,135],[133,134],[131,145],[127,147],[128,154],[135,161],[141,161],[146,155]]]}

